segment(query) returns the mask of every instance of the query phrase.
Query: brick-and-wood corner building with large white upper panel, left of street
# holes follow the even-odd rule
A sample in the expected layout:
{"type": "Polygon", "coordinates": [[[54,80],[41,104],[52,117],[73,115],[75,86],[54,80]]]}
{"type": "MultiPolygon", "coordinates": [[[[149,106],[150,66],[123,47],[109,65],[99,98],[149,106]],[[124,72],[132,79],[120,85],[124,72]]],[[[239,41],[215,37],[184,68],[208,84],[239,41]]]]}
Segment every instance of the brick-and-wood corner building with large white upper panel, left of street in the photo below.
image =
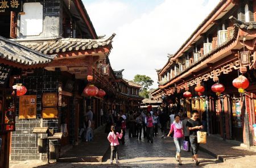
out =
{"type": "MultiPolygon", "coordinates": [[[[76,145],[88,106],[92,107],[94,128],[104,123],[101,110],[138,108],[142,100],[138,95],[141,86],[122,79],[122,71],[114,72],[108,58],[115,34],[97,36],[82,1],[17,0],[18,9],[10,1],[6,2],[8,7],[0,7],[0,35],[13,38],[17,45],[38,53],[43,59],[30,56],[24,62],[20,57],[6,57],[19,64],[33,65],[23,68],[16,63],[22,70],[20,77],[13,81],[26,86],[27,93],[16,98],[11,159],[46,160],[46,153],[38,153],[37,142],[49,133],[63,133],[60,141],[52,142],[60,146],[59,152],[76,145]],[[52,57],[48,55],[55,58],[49,62],[52,57]],[[43,64],[47,57],[47,64],[43,64]],[[88,76],[93,79],[88,81],[88,76]],[[83,90],[92,84],[106,95],[86,96],[83,90]],[[33,99],[33,106],[24,104],[28,99],[33,99]],[[47,128],[48,132],[36,135],[33,133],[36,127],[47,128]]],[[[1,59],[1,64],[2,61],[5,60],[1,59]]]]}

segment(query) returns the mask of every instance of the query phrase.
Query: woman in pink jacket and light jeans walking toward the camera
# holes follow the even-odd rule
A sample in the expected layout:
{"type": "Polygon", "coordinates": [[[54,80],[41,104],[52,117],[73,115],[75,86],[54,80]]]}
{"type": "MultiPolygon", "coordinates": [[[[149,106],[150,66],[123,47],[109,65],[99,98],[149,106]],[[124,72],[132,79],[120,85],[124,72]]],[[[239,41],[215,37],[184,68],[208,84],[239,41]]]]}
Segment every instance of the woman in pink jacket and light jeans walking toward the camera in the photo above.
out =
{"type": "Polygon", "coordinates": [[[181,145],[183,143],[183,126],[182,123],[180,121],[180,116],[179,115],[175,115],[174,116],[174,123],[171,124],[171,129],[170,132],[168,134],[168,137],[170,137],[172,131],[174,131],[174,143],[176,146],[176,161],[179,162],[179,165],[182,165],[181,163],[181,158],[180,158],[180,149],[181,149],[181,145]]]}

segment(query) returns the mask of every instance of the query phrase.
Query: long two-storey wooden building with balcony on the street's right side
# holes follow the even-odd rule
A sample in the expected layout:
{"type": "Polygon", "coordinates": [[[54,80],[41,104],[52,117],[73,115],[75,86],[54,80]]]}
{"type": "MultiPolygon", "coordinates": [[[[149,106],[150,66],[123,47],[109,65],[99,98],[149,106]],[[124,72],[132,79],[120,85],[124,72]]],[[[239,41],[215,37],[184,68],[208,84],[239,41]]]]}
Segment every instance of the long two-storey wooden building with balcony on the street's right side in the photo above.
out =
{"type": "Polygon", "coordinates": [[[222,0],[168,62],[158,70],[154,99],[178,98],[187,111],[207,112],[207,131],[225,138],[255,144],[256,121],[256,1],[222,0]],[[249,79],[244,94],[232,85],[238,74],[249,79]],[[214,81],[213,81],[214,80],[214,81]],[[219,82],[225,91],[217,96],[211,87],[219,82]],[[195,92],[204,86],[203,95],[195,92]],[[185,99],[188,90],[192,98],[185,99]],[[245,98],[243,98],[245,96],[245,98]],[[242,99],[243,98],[243,99],[242,99]]]}

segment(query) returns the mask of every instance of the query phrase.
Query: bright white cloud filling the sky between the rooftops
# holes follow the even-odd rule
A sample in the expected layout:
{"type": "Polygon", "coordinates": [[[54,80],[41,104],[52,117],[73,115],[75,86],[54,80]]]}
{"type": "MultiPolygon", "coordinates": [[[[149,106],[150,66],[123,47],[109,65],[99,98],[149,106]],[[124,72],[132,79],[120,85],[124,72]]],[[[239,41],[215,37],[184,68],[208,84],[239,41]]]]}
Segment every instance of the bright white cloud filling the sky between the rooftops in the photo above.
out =
{"type": "Polygon", "coordinates": [[[97,32],[117,33],[110,54],[113,69],[125,69],[127,79],[146,74],[157,87],[155,69],[166,64],[167,53],[175,53],[218,2],[166,0],[139,13],[125,2],[105,0],[86,9],[97,32]]]}

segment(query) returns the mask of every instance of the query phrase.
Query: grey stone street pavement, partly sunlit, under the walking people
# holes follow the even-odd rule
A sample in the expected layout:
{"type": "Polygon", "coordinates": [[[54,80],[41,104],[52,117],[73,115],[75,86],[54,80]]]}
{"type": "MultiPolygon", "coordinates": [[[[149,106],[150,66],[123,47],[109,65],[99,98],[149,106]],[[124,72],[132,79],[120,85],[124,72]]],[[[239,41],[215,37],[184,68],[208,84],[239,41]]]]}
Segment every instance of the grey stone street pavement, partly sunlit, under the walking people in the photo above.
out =
{"type": "MultiPolygon", "coordinates": [[[[136,138],[126,138],[126,145],[119,146],[120,164],[118,165],[109,165],[110,151],[108,151],[102,163],[51,163],[47,165],[44,162],[24,161],[12,163],[10,167],[197,167],[191,160],[191,153],[184,151],[181,153],[183,165],[179,166],[174,158],[175,152],[172,138],[155,137],[154,144],[147,143],[146,139],[140,141],[136,138]]],[[[223,163],[203,152],[199,152],[199,158],[200,167],[250,167],[250,165],[236,164],[236,160],[233,163],[223,163]]]]}

